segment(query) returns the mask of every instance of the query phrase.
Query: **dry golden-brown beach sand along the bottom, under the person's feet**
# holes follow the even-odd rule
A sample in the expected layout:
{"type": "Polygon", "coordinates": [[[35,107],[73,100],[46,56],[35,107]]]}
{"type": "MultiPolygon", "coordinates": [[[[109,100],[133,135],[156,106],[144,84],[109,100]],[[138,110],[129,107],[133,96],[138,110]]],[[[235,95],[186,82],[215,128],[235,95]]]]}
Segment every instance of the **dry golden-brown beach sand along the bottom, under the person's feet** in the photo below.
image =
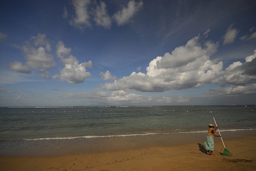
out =
{"type": "MultiPolygon", "coordinates": [[[[150,138],[155,140],[154,136],[150,138]]],[[[127,148],[101,146],[100,150],[86,153],[6,156],[0,157],[0,170],[256,170],[256,135],[225,140],[232,156],[221,155],[224,147],[220,138],[215,138],[213,157],[206,155],[204,138],[196,139],[139,146],[127,142],[123,143],[127,148]]]]}

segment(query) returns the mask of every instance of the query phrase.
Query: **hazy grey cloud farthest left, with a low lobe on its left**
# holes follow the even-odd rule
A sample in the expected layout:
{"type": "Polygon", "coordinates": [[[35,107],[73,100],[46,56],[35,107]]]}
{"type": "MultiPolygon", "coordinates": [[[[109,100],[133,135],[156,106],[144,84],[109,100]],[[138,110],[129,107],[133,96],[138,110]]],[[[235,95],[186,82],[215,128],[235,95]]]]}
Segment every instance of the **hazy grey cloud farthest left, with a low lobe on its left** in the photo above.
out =
{"type": "Polygon", "coordinates": [[[50,42],[46,39],[46,34],[37,34],[31,37],[31,42],[21,47],[25,64],[21,62],[13,62],[10,64],[10,69],[16,72],[31,73],[30,69],[35,69],[40,73],[41,77],[49,78],[47,69],[55,66],[53,56],[49,53],[51,51],[50,42]]]}

